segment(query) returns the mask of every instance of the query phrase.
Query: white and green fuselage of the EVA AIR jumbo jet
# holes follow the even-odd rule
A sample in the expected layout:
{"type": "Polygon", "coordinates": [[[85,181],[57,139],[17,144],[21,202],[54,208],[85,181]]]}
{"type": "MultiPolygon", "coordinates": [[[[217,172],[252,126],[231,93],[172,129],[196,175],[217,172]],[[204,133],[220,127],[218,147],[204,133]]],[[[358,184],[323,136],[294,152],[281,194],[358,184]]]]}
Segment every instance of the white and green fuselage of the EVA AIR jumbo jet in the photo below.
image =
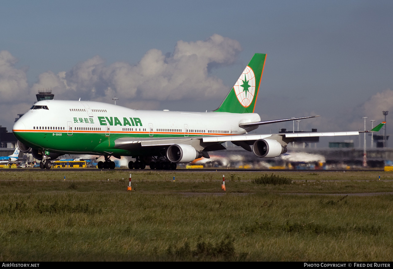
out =
{"type": "Polygon", "coordinates": [[[133,156],[114,148],[121,137],[163,138],[244,134],[239,123],[260,121],[257,113],[134,110],[90,101],[45,100],[35,103],[13,126],[31,148],[67,154],[133,156]]]}

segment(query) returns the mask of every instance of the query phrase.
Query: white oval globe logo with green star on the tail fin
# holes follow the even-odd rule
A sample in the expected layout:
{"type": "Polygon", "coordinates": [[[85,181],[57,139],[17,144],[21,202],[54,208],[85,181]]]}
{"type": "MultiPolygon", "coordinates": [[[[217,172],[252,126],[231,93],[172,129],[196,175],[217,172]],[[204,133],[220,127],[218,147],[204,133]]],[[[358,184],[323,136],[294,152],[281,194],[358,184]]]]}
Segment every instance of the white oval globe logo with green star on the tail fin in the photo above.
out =
{"type": "Polygon", "coordinates": [[[241,105],[245,108],[250,106],[255,94],[255,75],[250,66],[244,69],[233,89],[241,105]]]}

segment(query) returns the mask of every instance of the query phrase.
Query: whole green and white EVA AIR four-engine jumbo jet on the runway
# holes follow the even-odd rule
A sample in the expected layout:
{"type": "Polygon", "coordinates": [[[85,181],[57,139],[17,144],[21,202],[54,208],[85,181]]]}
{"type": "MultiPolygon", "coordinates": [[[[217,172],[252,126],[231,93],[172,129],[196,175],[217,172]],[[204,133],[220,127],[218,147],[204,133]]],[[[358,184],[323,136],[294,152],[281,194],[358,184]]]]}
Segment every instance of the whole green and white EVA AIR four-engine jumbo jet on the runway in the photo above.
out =
{"type": "Polygon", "coordinates": [[[248,134],[259,125],[310,117],[261,121],[254,112],[266,54],[256,53],[222,104],[212,112],[134,110],[113,104],[44,100],[13,126],[18,148],[41,168],[63,154],[104,156],[98,168],[115,167],[111,157],[130,156],[129,168],[176,169],[177,163],[209,158],[231,141],[261,158],[277,157],[296,137],[358,135],[359,132],[248,134]]]}

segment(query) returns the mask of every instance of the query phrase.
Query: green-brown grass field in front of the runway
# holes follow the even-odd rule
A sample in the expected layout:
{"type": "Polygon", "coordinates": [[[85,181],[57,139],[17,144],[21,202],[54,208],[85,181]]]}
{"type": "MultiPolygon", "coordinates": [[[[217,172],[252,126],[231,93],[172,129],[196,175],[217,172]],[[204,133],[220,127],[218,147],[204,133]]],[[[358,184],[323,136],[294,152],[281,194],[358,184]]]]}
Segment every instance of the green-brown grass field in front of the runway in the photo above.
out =
{"type": "Polygon", "coordinates": [[[0,261],[391,260],[393,173],[265,174],[1,172],[0,261]]]}

